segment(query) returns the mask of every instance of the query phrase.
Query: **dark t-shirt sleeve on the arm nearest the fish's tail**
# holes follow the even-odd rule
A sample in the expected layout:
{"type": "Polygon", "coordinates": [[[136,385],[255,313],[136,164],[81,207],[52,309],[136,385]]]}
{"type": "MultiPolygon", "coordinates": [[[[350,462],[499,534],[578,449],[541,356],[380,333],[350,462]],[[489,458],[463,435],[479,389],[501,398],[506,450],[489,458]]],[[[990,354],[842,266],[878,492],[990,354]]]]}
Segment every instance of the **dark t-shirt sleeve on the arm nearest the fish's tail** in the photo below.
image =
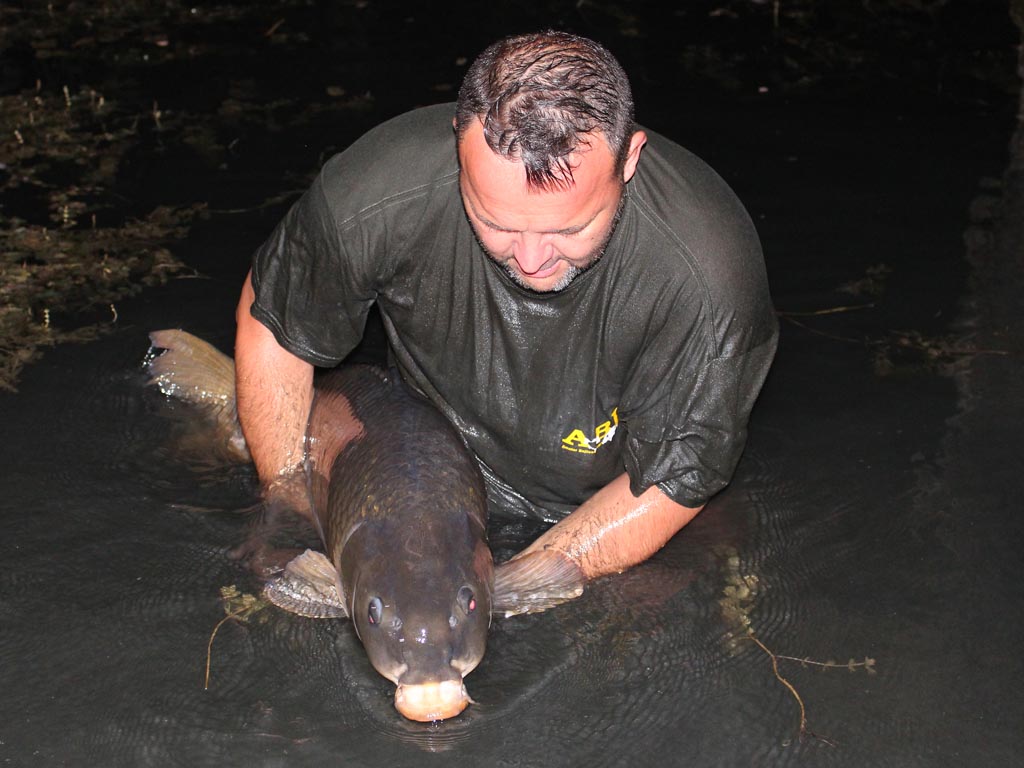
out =
{"type": "Polygon", "coordinates": [[[342,236],[326,193],[330,164],[253,257],[252,314],[283,347],[314,366],[337,365],[362,337],[376,297],[373,239],[342,236]]]}

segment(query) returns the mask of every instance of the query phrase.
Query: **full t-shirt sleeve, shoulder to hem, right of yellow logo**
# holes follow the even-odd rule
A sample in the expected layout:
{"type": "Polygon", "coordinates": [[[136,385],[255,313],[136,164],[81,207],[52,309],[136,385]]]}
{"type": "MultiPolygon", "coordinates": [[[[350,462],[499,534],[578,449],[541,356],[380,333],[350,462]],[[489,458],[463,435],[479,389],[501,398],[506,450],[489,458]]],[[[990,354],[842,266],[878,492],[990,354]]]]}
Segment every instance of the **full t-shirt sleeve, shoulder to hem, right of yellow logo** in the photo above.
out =
{"type": "Polygon", "coordinates": [[[750,215],[725,181],[660,137],[634,200],[664,256],[658,301],[632,364],[621,416],[630,489],[656,485],[699,507],[728,484],[771,367],[778,324],[750,215]]]}

